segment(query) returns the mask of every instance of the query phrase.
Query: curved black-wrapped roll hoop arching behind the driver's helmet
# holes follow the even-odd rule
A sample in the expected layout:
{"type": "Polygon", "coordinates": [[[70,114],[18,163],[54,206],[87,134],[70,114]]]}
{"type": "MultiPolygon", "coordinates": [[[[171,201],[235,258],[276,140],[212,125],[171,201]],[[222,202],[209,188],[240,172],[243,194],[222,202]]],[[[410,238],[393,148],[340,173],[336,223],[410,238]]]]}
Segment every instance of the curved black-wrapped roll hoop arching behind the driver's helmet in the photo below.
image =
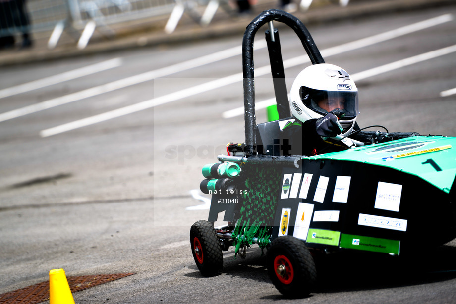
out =
{"type": "Polygon", "coordinates": [[[325,63],[309,31],[295,16],[279,9],[265,10],[250,22],[242,41],[242,72],[244,76],[245,152],[254,154],[255,145],[255,84],[253,65],[253,40],[258,29],[269,21],[279,21],[291,27],[301,40],[312,64],[325,63]]]}

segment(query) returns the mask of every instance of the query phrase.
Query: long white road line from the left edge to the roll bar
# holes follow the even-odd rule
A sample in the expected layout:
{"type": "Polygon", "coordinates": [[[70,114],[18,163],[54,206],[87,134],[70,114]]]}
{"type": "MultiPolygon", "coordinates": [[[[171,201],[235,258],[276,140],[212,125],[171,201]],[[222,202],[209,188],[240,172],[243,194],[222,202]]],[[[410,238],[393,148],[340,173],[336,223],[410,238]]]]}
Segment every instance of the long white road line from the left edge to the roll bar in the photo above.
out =
{"type": "MultiPolygon", "coordinates": [[[[256,49],[265,48],[266,42],[256,44],[256,49]]],[[[233,57],[242,53],[242,47],[234,47],[228,50],[215,52],[209,55],[201,56],[195,59],[187,60],[181,63],[173,64],[157,70],[145,72],[135,76],[127,77],[124,79],[116,80],[104,85],[89,88],[83,91],[75,92],[65,96],[57,97],[48,101],[42,101],[32,105],[28,105],[19,109],[11,110],[9,112],[0,114],[0,122],[21,117],[27,114],[36,113],[46,110],[58,105],[67,104],[73,101],[79,101],[85,98],[94,97],[103,93],[112,92],[114,90],[122,89],[132,85],[140,84],[155,78],[164,77],[177,72],[182,72],[191,68],[199,67],[205,64],[220,61],[229,57],[233,57]]]]}

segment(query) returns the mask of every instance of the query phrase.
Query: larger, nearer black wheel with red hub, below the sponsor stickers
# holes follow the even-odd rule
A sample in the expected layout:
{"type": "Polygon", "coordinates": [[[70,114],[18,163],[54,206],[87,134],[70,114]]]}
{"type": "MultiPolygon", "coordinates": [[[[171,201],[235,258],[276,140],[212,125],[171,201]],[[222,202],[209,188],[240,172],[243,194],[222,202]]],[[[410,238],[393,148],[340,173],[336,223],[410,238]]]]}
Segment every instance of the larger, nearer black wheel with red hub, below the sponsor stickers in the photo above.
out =
{"type": "Polygon", "coordinates": [[[276,238],[267,253],[269,277],[287,298],[305,298],[315,290],[317,270],[304,241],[292,236],[276,238]]]}

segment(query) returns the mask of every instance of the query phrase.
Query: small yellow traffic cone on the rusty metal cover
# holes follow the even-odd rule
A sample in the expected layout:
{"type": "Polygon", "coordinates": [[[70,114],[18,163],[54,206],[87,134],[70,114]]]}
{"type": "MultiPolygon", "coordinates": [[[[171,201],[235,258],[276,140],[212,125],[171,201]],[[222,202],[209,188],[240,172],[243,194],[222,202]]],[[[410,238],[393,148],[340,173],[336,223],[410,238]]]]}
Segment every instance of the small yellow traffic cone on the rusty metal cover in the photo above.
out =
{"type": "Polygon", "coordinates": [[[49,271],[49,304],[74,304],[63,269],[49,271]]]}

